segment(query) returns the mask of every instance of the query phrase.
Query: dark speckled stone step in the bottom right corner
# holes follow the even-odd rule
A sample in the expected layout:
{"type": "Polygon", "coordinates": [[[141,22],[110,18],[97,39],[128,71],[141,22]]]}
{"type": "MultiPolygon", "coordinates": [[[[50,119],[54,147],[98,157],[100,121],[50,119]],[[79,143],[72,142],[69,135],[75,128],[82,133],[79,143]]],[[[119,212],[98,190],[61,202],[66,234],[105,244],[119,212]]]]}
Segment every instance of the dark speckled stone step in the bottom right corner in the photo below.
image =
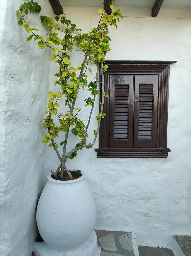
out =
{"type": "Polygon", "coordinates": [[[173,237],[181,250],[181,256],[191,256],[191,236],[174,235],[173,237]]]}

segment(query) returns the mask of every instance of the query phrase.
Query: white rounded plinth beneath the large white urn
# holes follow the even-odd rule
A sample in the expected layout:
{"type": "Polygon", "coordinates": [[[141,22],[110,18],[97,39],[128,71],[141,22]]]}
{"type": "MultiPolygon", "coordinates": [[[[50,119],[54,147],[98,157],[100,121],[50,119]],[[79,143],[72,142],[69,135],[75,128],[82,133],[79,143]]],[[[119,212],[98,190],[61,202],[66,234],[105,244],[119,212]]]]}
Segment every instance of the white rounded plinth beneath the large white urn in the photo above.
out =
{"type": "Polygon", "coordinates": [[[54,251],[50,249],[45,242],[34,242],[33,251],[36,256],[100,256],[101,254],[101,248],[97,245],[95,231],[92,232],[87,242],[77,250],[69,252],[54,251]]]}

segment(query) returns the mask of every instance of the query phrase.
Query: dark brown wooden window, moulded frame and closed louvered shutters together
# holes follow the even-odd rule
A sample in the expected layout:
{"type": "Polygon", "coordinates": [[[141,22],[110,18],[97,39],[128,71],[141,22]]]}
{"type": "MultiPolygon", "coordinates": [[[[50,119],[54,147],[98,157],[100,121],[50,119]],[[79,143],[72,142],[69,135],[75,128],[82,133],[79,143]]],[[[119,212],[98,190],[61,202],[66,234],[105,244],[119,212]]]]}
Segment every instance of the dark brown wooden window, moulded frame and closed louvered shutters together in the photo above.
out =
{"type": "Polygon", "coordinates": [[[109,97],[104,99],[106,116],[95,149],[98,158],[168,157],[168,88],[173,63],[106,61],[99,99],[103,92],[109,97]]]}

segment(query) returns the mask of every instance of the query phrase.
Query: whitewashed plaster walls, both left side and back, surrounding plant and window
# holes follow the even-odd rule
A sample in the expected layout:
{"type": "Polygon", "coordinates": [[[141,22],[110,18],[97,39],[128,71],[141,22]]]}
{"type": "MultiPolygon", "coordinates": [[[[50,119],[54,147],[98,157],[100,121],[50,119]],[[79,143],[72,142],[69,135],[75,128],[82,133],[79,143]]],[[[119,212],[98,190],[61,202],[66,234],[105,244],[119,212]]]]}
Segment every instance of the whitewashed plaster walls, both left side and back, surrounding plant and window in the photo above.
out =
{"type": "MultiPolygon", "coordinates": [[[[46,10],[53,14],[48,1],[38,2],[44,6],[42,14],[46,10]]],[[[0,6],[0,255],[3,256],[30,256],[36,232],[37,196],[50,169],[58,166],[52,148],[46,147],[44,152],[41,142],[47,91],[56,90],[55,78],[51,78],[49,87],[49,56],[33,42],[25,43],[27,35],[17,25],[15,15],[20,4],[19,0],[3,0],[0,6]]],[[[97,206],[95,228],[133,230],[138,244],[165,246],[171,243],[171,234],[191,234],[191,12],[189,8],[166,8],[156,18],[151,18],[150,13],[150,8],[122,8],[124,20],[117,31],[111,29],[112,51],[107,59],[177,60],[170,67],[169,157],[97,159],[94,151],[98,148],[97,141],[92,150],[80,150],[79,156],[68,160],[67,165],[86,172],[97,206]]],[[[98,19],[97,8],[93,7],[68,7],[65,14],[84,31],[98,19]],[[83,19],[79,16],[81,11],[85,13],[83,19]]],[[[77,55],[76,67],[81,60],[82,56],[77,55]]],[[[57,73],[57,66],[50,73],[57,73]]],[[[90,81],[94,77],[95,72],[90,81]]],[[[82,92],[78,107],[86,97],[82,92]]],[[[84,120],[88,111],[82,113],[84,120]]],[[[93,116],[97,113],[98,101],[93,116]]],[[[95,126],[93,120],[90,134],[95,126]]],[[[89,135],[88,141],[92,138],[89,135]]],[[[68,150],[75,144],[73,139],[68,150]]]]}

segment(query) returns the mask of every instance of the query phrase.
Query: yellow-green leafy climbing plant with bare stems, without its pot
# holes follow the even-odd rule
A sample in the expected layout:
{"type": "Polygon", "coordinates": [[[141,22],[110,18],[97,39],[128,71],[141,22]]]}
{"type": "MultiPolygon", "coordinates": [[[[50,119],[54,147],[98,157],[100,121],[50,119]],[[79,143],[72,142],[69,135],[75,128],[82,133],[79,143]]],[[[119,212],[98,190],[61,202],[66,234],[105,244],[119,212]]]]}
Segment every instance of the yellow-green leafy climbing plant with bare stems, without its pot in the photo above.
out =
{"type": "MultiPolygon", "coordinates": [[[[59,168],[61,168],[60,174],[62,170],[67,171],[65,162],[68,158],[73,159],[76,157],[79,149],[92,148],[98,135],[100,121],[105,116],[102,111],[104,97],[108,97],[106,93],[102,95],[102,99],[99,101],[101,110],[95,117],[98,126],[93,131],[95,136],[94,141],[87,143],[88,126],[92,117],[95,98],[100,93],[98,76],[106,72],[108,68],[103,63],[105,62],[107,53],[111,50],[109,43],[111,39],[108,36],[109,26],[115,26],[117,28],[119,17],[122,18],[120,9],[115,10],[113,5],[110,5],[110,7],[113,10],[112,15],[105,14],[103,9],[98,10],[98,14],[100,14],[98,25],[87,33],[83,33],[81,29],[77,28],[65,16],[55,16],[53,19],[46,15],[41,15],[42,25],[47,25],[49,29],[46,38],[40,34],[41,32],[37,34],[36,31],[39,31],[38,28],[31,27],[28,22],[28,13],[40,13],[41,11],[41,7],[37,2],[31,0],[28,3],[22,4],[19,10],[16,11],[16,14],[19,16],[18,24],[23,26],[26,33],[29,34],[26,41],[29,42],[33,39],[43,51],[46,48],[50,48],[52,50],[50,60],[58,65],[58,73],[54,74],[56,77],[54,84],[59,89],[56,89],[54,92],[48,91],[47,108],[44,112],[46,117],[43,122],[48,135],[44,135],[43,142],[44,144],[51,142],[48,146],[53,147],[58,155],[60,159],[59,168]],[[81,55],[85,56],[82,63],[79,63],[78,66],[72,64],[70,60],[70,53],[73,51],[74,45],[82,52],[81,55]],[[96,77],[92,82],[88,82],[88,75],[92,75],[93,73],[90,64],[95,64],[98,67],[96,77]],[[101,70],[99,70],[100,66],[101,70]],[[84,99],[85,106],[82,108],[75,106],[80,89],[87,89],[90,96],[84,99]],[[63,106],[66,107],[63,108],[63,106]],[[80,119],[79,115],[84,108],[87,108],[87,111],[90,113],[86,123],[80,119]],[[55,122],[56,119],[57,122],[55,122]],[[79,138],[79,143],[71,151],[66,153],[69,132],[79,138]],[[62,140],[59,145],[54,142],[54,138],[58,136],[62,140]],[[59,152],[60,148],[62,149],[62,154],[59,152]]],[[[79,54],[79,51],[76,53],[79,54]]],[[[54,173],[54,177],[57,177],[59,168],[54,173]]],[[[68,171],[67,173],[70,177],[68,171]]]]}

